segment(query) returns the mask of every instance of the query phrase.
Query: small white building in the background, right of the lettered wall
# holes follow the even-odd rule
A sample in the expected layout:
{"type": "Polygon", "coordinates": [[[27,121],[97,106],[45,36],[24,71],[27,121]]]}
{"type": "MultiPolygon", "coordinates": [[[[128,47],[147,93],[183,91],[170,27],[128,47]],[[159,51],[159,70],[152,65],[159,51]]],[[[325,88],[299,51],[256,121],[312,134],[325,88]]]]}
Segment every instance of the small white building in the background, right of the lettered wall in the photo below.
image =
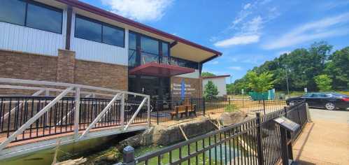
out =
{"type": "Polygon", "coordinates": [[[208,76],[202,78],[202,86],[203,86],[203,92],[204,87],[207,84],[208,81],[212,81],[213,84],[218,89],[218,96],[227,96],[227,82],[225,78],[229,78],[230,75],[221,75],[221,76],[208,76]]]}

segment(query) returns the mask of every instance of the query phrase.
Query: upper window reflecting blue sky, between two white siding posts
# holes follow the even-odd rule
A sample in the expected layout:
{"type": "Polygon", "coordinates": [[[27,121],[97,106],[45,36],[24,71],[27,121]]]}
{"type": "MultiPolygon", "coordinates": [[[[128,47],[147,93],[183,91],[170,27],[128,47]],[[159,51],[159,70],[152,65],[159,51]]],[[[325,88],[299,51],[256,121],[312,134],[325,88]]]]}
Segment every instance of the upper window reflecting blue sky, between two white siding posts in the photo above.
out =
{"type": "Polygon", "coordinates": [[[75,37],[124,47],[124,29],[76,15],[75,37]]]}

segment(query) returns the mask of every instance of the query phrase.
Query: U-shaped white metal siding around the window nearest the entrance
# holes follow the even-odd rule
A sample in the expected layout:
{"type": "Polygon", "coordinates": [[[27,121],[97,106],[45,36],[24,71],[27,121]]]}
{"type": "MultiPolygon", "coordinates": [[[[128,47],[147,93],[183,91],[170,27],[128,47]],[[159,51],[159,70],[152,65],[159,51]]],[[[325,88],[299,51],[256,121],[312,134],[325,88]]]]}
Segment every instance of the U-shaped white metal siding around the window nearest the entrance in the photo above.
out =
{"type": "Polygon", "coordinates": [[[71,50],[76,52],[76,59],[109,64],[128,65],[128,31],[125,30],[125,48],[85,39],[75,38],[75,13],[71,22],[71,50]]]}

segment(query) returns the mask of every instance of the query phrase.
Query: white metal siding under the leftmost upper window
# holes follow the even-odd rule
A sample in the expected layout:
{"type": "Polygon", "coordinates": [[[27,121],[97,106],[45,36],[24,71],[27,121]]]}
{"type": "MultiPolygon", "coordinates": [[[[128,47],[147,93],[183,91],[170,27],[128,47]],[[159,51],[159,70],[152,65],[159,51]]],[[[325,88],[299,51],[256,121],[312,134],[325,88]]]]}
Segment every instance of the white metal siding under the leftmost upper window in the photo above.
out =
{"type": "Polygon", "coordinates": [[[66,10],[63,12],[62,34],[0,22],[0,49],[57,56],[65,47],[66,10]]]}

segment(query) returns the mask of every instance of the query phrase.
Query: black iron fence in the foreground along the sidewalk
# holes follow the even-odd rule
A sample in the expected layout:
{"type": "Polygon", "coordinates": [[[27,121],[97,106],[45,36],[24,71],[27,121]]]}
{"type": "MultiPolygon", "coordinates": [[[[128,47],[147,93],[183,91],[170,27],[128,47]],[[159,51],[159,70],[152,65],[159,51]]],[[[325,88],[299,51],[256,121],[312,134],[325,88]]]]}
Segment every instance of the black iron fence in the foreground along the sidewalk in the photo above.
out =
{"type": "MultiPolygon", "coordinates": [[[[124,164],[279,164],[292,159],[292,149],[283,148],[283,138],[297,138],[307,122],[306,103],[283,108],[273,113],[224,127],[175,145],[134,158],[134,149],[124,148],[124,164]],[[287,137],[273,120],[287,117],[301,125],[287,137]],[[286,153],[285,153],[286,152],[286,153]],[[287,153],[288,152],[288,153],[287,153]]],[[[122,164],[122,163],[120,163],[122,164]]],[[[287,162],[288,164],[288,162],[287,162]]]]}

